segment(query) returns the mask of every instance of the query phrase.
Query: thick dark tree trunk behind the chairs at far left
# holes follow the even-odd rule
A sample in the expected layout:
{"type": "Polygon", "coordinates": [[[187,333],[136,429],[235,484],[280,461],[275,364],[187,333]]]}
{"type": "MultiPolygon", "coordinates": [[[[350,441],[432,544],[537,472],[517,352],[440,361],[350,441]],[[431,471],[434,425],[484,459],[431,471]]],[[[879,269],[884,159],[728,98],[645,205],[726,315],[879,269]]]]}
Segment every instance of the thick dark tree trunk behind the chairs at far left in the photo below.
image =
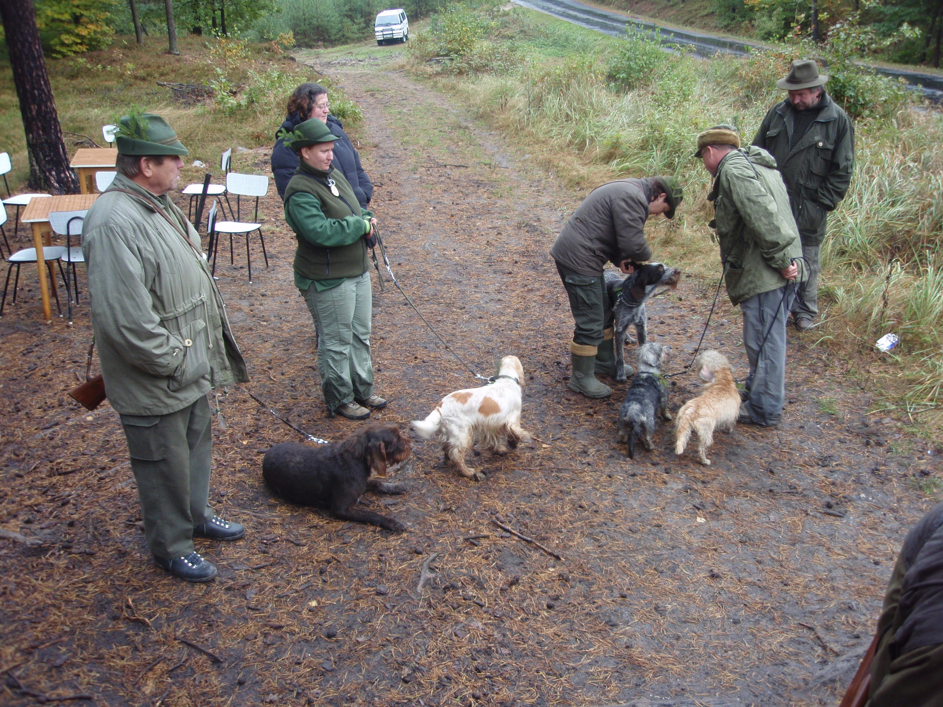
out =
{"type": "Polygon", "coordinates": [[[29,189],[77,194],[78,177],[69,167],[32,0],[3,0],[0,19],[7,35],[9,64],[23,115],[29,189]]]}

